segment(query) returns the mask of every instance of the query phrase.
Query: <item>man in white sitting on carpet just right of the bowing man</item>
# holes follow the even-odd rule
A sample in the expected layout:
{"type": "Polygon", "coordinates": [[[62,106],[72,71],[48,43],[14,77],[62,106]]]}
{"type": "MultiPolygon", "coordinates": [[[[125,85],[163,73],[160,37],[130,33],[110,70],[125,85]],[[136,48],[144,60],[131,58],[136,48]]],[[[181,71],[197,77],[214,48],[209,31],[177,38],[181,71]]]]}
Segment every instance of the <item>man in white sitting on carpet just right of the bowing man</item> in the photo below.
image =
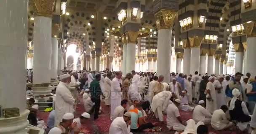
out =
{"type": "Polygon", "coordinates": [[[178,132],[184,131],[185,126],[187,125],[185,121],[181,120],[179,114],[179,105],[181,101],[176,99],[173,103],[169,104],[167,108],[167,128],[169,130],[176,130],[178,132]]]}

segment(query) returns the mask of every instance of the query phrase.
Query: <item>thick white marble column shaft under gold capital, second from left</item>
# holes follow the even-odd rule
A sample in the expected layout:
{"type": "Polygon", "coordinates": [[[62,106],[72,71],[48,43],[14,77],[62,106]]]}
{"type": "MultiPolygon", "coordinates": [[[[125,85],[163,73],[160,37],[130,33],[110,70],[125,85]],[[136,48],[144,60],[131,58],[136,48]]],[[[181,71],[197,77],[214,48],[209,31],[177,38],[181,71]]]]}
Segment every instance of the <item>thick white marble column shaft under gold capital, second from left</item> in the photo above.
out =
{"type": "Polygon", "coordinates": [[[34,72],[33,83],[51,81],[51,18],[34,18],[34,72]]]}

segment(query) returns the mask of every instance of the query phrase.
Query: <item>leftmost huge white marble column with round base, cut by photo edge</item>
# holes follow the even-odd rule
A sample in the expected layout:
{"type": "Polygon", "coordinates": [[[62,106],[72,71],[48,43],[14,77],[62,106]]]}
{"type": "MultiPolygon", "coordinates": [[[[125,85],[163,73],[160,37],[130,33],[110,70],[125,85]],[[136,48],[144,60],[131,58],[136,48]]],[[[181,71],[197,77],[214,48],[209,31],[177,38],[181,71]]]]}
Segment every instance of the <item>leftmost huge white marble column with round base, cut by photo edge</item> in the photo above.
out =
{"type": "Polygon", "coordinates": [[[4,0],[0,3],[0,106],[2,109],[19,108],[20,113],[18,117],[7,119],[0,115],[0,134],[27,134],[28,3],[27,0],[4,0]]]}

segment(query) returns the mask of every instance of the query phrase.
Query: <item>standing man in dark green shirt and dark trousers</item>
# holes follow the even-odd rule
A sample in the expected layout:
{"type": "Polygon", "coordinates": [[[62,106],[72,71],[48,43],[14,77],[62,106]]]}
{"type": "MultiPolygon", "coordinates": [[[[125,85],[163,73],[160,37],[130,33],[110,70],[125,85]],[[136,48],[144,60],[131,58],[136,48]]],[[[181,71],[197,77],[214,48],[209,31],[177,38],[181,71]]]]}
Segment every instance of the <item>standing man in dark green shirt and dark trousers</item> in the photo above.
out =
{"type": "Polygon", "coordinates": [[[101,87],[99,82],[101,80],[101,74],[95,75],[95,80],[91,82],[91,101],[95,103],[93,108],[89,111],[89,113],[93,113],[94,111],[94,119],[98,119],[99,107],[101,105],[101,87]]]}

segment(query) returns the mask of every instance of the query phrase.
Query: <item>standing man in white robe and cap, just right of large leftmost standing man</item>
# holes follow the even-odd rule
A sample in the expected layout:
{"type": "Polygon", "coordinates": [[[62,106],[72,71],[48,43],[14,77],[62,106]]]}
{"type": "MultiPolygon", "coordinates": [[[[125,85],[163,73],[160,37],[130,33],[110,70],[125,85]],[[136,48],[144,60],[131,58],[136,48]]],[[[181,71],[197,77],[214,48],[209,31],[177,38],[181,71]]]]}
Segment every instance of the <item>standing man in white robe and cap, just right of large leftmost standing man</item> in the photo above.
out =
{"type": "Polygon", "coordinates": [[[72,71],[70,73],[70,75],[71,75],[71,82],[69,84],[70,85],[69,90],[70,90],[73,98],[75,98],[74,110],[76,110],[76,106],[78,104],[78,93],[77,93],[77,91],[78,91],[78,89],[80,89],[79,85],[81,84],[81,82],[78,81],[78,73],[77,73],[76,70],[72,71]]]}

